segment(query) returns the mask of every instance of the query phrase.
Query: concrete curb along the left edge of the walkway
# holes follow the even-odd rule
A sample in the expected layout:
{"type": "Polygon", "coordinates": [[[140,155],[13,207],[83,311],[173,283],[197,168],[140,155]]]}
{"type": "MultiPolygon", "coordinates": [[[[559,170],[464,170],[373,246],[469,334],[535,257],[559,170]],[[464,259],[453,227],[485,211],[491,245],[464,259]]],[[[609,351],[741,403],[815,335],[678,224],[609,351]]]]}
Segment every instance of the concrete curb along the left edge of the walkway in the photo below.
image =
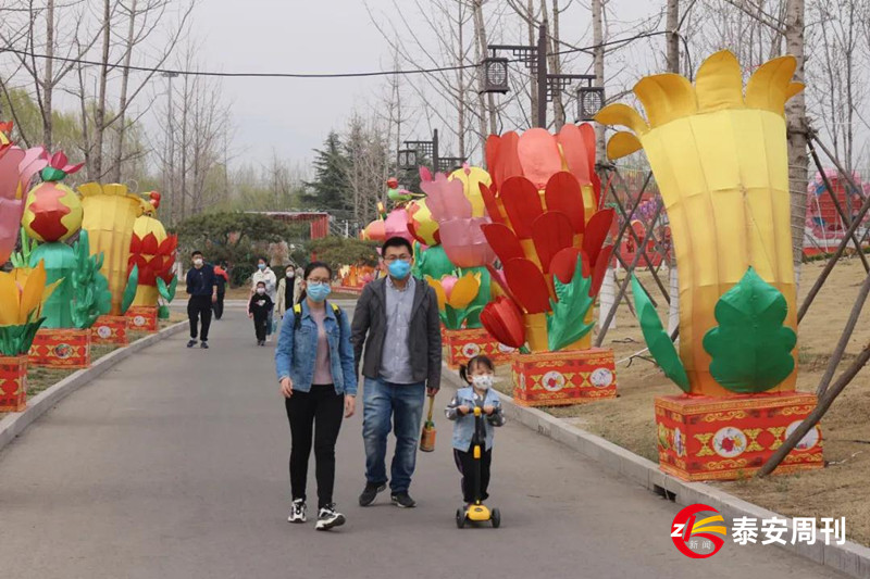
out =
{"type": "Polygon", "coordinates": [[[134,353],[148,348],[159,341],[165,340],[183,331],[187,327],[187,322],[178,322],[156,333],[133,342],[124,348],[110,352],[94,363],[89,368],[77,370],[51,388],[39,392],[34,398],[27,400],[27,408],[24,412],[12,413],[0,420],[0,450],[15,440],[25,428],[39,418],[42,414],[51,410],[57,403],[69,397],[86,383],[101,376],[109,368],[112,368],[133,355],[134,353]]]}

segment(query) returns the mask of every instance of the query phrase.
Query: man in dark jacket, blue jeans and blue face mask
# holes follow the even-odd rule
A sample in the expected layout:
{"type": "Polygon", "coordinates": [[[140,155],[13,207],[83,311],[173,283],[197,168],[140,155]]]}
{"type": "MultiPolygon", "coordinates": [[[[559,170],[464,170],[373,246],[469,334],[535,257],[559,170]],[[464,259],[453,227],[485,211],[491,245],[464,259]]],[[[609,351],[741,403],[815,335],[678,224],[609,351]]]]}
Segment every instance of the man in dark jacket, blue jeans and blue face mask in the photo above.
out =
{"type": "Polygon", "coordinates": [[[428,284],[411,276],[413,249],[407,239],[387,239],[381,257],[386,276],[362,290],[351,330],[355,364],[359,367],[362,362],[364,377],[365,488],[359,501],[361,506],[368,506],[386,489],[387,435],[393,420],[396,451],[390,467],[390,500],[408,508],[417,504],[408,490],[425,397],[434,397],[440,388],[438,300],[428,284]]]}

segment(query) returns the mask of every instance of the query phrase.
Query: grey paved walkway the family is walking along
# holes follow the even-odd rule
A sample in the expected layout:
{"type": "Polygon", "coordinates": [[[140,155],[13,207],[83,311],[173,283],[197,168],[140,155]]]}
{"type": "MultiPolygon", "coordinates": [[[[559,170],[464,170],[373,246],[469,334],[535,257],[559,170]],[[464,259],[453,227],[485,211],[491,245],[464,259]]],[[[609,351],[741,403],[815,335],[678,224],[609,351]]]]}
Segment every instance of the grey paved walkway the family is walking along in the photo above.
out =
{"type": "Polygon", "coordinates": [[[235,307],[214,324],[210,350],[187,350],[186,339],[122,363],[0,453],[1,576],[840,577],[774,547],[729,543],[688,559],[670,539],[676,505],[519,425],[496,441],[490,493],[502,527],[458,530],[443,417],[437,451],[418,460],[418,508],[396,508],[385,494],[357,505],[357,415],[338,444],[336,500],[348,524],[332,533],[289,525],[289,432],[272,348],[254,344],[235,307]]]}

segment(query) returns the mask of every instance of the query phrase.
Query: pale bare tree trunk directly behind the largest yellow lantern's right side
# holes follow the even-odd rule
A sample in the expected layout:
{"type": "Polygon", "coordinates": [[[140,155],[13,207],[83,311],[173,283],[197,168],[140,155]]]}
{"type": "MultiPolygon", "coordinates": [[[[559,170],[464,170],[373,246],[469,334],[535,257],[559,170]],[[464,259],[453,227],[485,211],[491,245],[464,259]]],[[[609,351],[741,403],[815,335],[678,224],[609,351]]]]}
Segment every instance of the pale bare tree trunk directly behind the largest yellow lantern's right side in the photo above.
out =
{"type": "MultiPolygon", "coordinates": [[[[804,81],[805,0],[788,0],[785,13],[785,49],[797,59],[795,80],[804,81]]],[[[792,197],[792,261],[795,285],[800,282],[804,227],[807,217],[807,104],[803,92],[785,105],[788,123],[788,188],[792,197]]]]}

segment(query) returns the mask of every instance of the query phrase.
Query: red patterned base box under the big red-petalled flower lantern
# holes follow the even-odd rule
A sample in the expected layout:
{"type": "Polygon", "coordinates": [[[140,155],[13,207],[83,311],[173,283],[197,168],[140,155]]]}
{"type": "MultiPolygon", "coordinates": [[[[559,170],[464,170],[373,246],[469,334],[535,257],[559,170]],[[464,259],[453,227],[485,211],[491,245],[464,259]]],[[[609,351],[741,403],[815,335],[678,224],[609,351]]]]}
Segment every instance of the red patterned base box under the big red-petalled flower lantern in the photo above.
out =
{"type": "Polygon", "coordinates": [[[513,400],[562,406],[617,397],[613,351],[602,348],[513,356],[513,400]]]}

